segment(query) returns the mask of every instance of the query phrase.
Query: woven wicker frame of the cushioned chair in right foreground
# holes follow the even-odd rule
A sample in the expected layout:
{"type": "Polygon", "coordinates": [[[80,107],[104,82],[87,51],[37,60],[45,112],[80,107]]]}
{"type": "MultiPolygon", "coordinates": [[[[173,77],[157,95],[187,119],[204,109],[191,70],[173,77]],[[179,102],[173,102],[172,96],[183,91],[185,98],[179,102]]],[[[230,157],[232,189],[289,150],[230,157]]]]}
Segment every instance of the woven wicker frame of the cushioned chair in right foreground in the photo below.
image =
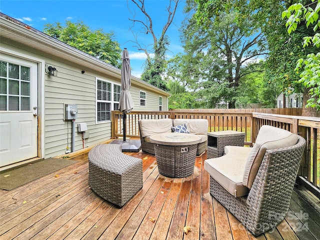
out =
{"type": "Polygon", "coordinates": [[[305,146],[267,150],[246,197],[234,197],[210,176],[210,193],[254,235],[273,229],[285,217],[305,146]]]}

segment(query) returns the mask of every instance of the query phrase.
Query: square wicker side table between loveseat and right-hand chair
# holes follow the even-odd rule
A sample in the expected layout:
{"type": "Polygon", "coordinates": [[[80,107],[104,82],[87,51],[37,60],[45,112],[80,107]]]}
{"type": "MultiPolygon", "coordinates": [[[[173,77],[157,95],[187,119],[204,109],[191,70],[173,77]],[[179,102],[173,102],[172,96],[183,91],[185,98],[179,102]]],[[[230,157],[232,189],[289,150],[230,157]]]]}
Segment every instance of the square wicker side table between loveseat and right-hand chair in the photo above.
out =
{"type": "Polygon", "coordinates": [[[245,133],[241,131],[213,131],[208,132],[207,158],[223,155],[224,146],[243,146],[245,133]]]}

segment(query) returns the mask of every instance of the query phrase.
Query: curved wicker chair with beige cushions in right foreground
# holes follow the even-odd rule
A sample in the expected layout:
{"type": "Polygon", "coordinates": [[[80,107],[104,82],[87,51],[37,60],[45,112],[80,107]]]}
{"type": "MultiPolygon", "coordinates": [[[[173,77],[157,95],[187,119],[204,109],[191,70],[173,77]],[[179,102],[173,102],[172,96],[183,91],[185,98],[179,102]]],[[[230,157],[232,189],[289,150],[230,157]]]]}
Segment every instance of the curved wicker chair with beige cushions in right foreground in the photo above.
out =
{"type": "Polygon", "coordinates": [[[225,155],[204,161],[210,193],[254,235],[285,217],[305,139],[263,125],[252,148],[225,146],[225,155]]]}

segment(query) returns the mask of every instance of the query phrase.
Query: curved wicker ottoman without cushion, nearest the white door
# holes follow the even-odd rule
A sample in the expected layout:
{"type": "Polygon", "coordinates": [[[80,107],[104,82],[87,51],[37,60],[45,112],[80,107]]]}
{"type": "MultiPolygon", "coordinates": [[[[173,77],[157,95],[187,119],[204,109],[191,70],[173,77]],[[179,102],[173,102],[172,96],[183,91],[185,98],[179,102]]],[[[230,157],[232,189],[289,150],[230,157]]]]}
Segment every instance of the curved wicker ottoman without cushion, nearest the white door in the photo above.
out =
{"type": "Polygon", "coordinates": [[[143,186],[142,159],[122,153],[119,144],[99,144],[88,154],[89,185],[102,198],[124,205],[143,186]]]}

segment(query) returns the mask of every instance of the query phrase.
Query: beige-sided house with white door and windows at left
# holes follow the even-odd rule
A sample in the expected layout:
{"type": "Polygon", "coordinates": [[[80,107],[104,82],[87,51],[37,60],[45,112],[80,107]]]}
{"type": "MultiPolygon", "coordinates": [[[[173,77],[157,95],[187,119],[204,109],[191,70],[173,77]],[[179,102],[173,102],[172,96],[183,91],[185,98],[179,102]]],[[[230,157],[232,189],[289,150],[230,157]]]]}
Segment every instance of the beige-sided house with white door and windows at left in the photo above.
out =
{"type": "MultiPolygon", "coordinates": [[[[0,13],[0,166],[109,139],[120,79],[120,69],[0,13]],[[85,141],[72,139],[73,121],[86,123],[85,141]]],[[[167,110],[169,94],[137,77],[130,93],[133,110],[167,110]]]]}

